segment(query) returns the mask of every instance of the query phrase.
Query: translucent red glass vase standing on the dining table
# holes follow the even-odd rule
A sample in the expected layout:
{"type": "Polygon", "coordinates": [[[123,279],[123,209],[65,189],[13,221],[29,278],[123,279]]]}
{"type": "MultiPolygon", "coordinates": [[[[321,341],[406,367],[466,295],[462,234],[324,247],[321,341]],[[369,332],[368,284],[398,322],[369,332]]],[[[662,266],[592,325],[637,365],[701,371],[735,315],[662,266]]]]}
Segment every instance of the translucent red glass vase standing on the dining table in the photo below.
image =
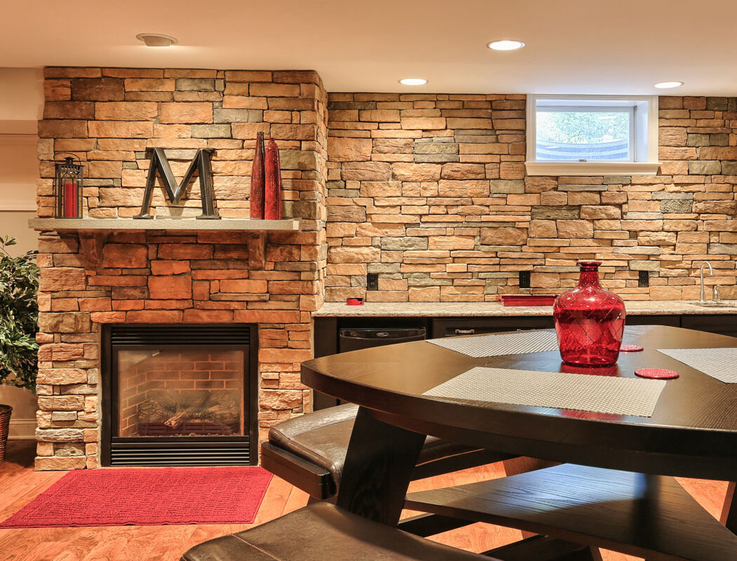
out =
{"type": "Polygon", "coordinates": [[[581,261],[579,286],[553,304],[561,358],[579,366],[617,362],[624,331],[624,301],[601,287],[598,261],[581,261]]]}

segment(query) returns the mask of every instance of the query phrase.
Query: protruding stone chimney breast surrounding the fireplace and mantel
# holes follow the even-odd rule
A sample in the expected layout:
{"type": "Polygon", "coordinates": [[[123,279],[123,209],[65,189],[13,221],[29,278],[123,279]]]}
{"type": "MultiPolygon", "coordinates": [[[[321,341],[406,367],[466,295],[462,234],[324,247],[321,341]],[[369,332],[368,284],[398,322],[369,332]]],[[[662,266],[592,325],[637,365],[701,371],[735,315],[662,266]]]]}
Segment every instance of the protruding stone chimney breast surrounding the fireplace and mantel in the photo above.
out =
{"type": "MultiPolygon", "coordinates": [[[[284,212],[301,219],[301,231],[268,233],[263,269],[251,267],[245,233],[113,233],[99,264],[76,235],[44,233],[36,467],[97,466],[102,323],[256,323],[262,437],[310,410],[299,363],[312,356],[310,311],[321,306],[326,265],[326,93],[318,75],[46,68],[45,85],[39,216],[53,211],[55,152],[85,163],[90,216],[127,217],[139,211],[147,147],[181,160],[172,162],[178,180],[194,150],[211,147],[220,214],[247,217],[254,138],[263,131],[282,149],[284,212]]],[[[169,212],[157,191],[157,211],[169,212]]],[[[200,204],[193,196],[183,206],[198,214],[200,204]]]]}

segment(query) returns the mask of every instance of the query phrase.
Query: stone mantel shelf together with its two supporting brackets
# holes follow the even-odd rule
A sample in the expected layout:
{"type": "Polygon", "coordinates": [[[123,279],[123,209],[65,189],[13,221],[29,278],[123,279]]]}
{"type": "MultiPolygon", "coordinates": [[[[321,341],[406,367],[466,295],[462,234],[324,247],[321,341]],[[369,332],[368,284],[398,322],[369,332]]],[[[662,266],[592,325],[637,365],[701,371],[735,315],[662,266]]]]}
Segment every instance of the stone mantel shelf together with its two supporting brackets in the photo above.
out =
{"type": "Polygon", "coordinates": [[[194,218],[133,219],[133,218],[32,218],[33,230],[76,233],[80,247],[91,269],[102,267],[103,247],[108,235],[115,232],[177,231],[177,232],[245,232],[248,244],[248,264],[251,269],[266,266],[266,233],[268,231],[298,231],[298,220],[220,220],[194,218]]]}

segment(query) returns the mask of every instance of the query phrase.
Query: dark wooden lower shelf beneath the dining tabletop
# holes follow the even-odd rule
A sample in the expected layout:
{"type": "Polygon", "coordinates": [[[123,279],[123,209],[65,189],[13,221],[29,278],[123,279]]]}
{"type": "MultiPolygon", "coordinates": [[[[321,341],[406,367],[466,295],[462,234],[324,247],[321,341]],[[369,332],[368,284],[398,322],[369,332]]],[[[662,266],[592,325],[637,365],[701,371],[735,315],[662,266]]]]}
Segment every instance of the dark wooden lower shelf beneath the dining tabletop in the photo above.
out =
{"type": "Polygon", "coordinates": [[[668,476],[563,464],[410,493],[407,507],[658,560],[733,559],[737,536],[668,476]]]}

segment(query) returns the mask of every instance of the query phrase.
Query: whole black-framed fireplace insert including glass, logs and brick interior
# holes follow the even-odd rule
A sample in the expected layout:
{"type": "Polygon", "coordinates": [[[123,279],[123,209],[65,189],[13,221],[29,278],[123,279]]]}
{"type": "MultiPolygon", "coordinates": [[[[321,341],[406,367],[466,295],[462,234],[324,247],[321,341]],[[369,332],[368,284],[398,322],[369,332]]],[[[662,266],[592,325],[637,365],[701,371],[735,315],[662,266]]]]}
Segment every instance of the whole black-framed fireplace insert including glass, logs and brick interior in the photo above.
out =
{"type": "Polygon", "coordinates": [[[105,325],[104,466],[256,465],[249,324],[105,325]]]}

